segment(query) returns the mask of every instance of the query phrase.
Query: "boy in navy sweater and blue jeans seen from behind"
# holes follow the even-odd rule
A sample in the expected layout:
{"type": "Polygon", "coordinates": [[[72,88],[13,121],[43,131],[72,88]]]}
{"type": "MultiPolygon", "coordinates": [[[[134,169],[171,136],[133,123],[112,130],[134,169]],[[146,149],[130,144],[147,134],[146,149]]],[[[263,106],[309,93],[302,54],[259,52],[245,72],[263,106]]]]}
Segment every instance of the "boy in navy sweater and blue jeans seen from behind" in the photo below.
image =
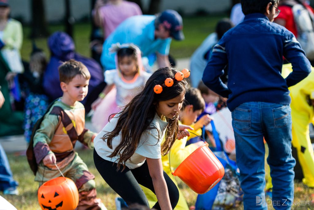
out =
{"type": "Polygon", "coordinates": [[[291,155],[291,109],[288,87],[311,72],[310,62],[294,35],[273,23],[279,0],[241,0],[244,21],[215,45],[203,82],[228,98],[236,139],[236,159],[244,191],[244,209],[267,209],[265,147],[273,178],[273,207],[290,209],[295,159],[291,155]],[[281,76],[283,56],[293,71],[281,76]],[[219,77],[229,64],[228,86],[219,77]]]}

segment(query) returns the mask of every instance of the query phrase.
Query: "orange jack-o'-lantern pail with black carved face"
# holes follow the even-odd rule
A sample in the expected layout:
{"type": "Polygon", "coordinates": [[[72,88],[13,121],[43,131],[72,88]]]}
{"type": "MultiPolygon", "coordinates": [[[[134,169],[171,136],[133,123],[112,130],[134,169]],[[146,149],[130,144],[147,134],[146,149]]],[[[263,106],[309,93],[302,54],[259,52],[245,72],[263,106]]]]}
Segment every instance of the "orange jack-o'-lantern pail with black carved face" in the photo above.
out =
{"type": "Polygon", "coordinates": [[[73,210],[78,205],[78,189],[69,178],[57,177],[45,182],[37,196],[43,210],[73,210]]]}

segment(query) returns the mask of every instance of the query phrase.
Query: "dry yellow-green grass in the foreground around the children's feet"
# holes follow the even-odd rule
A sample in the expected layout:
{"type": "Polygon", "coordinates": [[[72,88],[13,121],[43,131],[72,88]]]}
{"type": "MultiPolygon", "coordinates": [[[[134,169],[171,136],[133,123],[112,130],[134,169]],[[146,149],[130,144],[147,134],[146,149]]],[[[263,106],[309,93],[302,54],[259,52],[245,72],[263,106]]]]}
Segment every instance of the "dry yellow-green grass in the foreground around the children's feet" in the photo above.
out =
{"type": "MultiPolygon", "coordinates": [[[[97,172],[94,162],[92,150],[78,151],[80,157],[89,167],[91,173],[95,174],[96,189],[98,197],[103,201],[108,210],[116,209],[114,199],[117,194],[105,183],[97,172]]],[[[19,210],[39,210],[40,206],[37,201],[38,183],[34,181],[34,175],[31,172],[25,156],[14,156],[8,154],[8,159],[13,172],[14,179],[19,182],[18,190],[19,196],[3,196],[11,202],[19,210]]],[[[182,190],[183,195],[189,206],[195,205],[197,194],[187,187],[182,181],[177,179],[179,188],[182,190]]],[[[314,209],[314,189],[305,187],[302,183],[295,183],[295,201],[309,201],[310,205],[307,206],[293,206],[292,209],[311,210],[314,209]]],[[[242,210],[243,206],[237,208],[242,210]]],[[[273,209],[273,207],[269,207],[273,209]]]]}

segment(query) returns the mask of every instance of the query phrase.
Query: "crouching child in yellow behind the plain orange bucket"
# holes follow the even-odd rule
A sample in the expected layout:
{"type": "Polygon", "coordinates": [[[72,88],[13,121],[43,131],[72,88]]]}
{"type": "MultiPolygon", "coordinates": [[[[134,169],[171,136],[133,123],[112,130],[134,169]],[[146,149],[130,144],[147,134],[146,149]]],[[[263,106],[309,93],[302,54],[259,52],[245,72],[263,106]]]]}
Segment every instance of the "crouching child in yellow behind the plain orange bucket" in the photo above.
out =
{"type": "MultiPolygon", "coordinates": [[[[197,88],[190,88],[189,90],[187,90],[185,94],[185,103],[183,105],[183,111],[180,112],[181,122],[179,123],[182,123],[184,125],[190,125],[190,127],[192,127],[194,130],[188,130],[188,131],[191,131],[201,136],[203,126],[208,125],[211,121],[211,118],[209,115],[204,115],[197,122],[195,122],[197,117],[203,112],[204,108],[205,108],[205,102],[204,102],[204,99],[202,98],[201,92],[197,88]]],[[[185,146],[189,139],[196,137],[196,135],[193,133],[190,133],[189,137],[185,137],[180,140],[177,139],[173,143],[170,152],[167,155],[161,157],[164,171],[169,175],[169,177],[177,186],[178,184],[174,176],[171,174],[171,170],[173,172],[174,169],[178,167],[185,158],[187,158],[187,156],[189,156],[200,145],[203,145],[203,141],[201,141],[201,142],[197,142],[197,143],[185,146]],[[170,163],[169,163],[169,159],[170,159],[170,163]],[[170,170],[170,164],[171,164],[171,170],[170,170]]],[[[165,139],[163,139],[163,142],[164,141],[165,139]]],[[[163,142],[161,144],[163,144],[163,142]]],[[[147,197],[149,206],[153,207],[154,204],[157,202],[157,197],[148,188],[143,187],[143,186],[141,187],[147,197]]],[[[187,202],[185,201],[184,196],[180,189],[179,189],[179,201],[174,209],[175,210],[188,210],[189,209],[189,207],[187,206],[187,202]]]]}

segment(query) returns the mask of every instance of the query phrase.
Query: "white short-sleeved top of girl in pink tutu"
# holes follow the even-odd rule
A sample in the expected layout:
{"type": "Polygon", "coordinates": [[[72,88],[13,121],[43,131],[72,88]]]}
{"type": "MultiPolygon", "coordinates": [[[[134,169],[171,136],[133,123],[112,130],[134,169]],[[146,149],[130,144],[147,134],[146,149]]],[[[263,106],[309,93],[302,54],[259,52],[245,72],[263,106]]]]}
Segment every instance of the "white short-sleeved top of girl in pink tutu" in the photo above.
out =
{"type": "Polygon", "coordinates": [[[107,85],[112,83],[116,85],[116,103],[118,106],[127,105],[134,96],[140,93],[149,77],[149,73],[142,71],[134,82],[126,83],[116,69],[105,71],[105,82],[107,85]]]}

